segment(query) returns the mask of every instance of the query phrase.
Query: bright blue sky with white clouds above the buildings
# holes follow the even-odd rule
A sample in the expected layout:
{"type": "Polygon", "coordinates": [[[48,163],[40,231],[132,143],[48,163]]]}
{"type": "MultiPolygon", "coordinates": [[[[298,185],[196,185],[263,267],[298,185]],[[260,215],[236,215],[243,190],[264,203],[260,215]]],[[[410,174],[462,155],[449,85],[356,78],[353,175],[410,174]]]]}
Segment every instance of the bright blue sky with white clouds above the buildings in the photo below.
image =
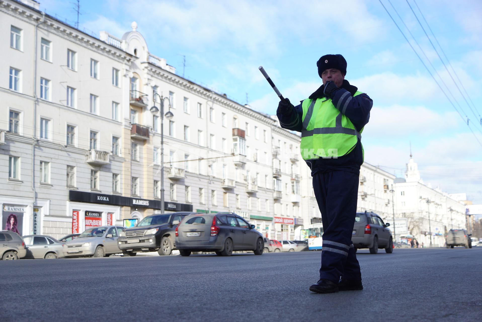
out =
{"type": "MultiPolygon", "coordinates": [[[[342,54],[346,79],[374,101],[362,134],[365,161],[403,177],[411,146],[424,183],[480,204],[482,1],[381,3],[80,0],[79,26],[121,38],[136,21],[149,52],[178,75],[267,114],[279,99],[259,66],[298,102],[321,85],[316,61],[342,54]]],[[[40,0],[40,10],[64,20],[77,19],[73,7],[40,0]]]]}

